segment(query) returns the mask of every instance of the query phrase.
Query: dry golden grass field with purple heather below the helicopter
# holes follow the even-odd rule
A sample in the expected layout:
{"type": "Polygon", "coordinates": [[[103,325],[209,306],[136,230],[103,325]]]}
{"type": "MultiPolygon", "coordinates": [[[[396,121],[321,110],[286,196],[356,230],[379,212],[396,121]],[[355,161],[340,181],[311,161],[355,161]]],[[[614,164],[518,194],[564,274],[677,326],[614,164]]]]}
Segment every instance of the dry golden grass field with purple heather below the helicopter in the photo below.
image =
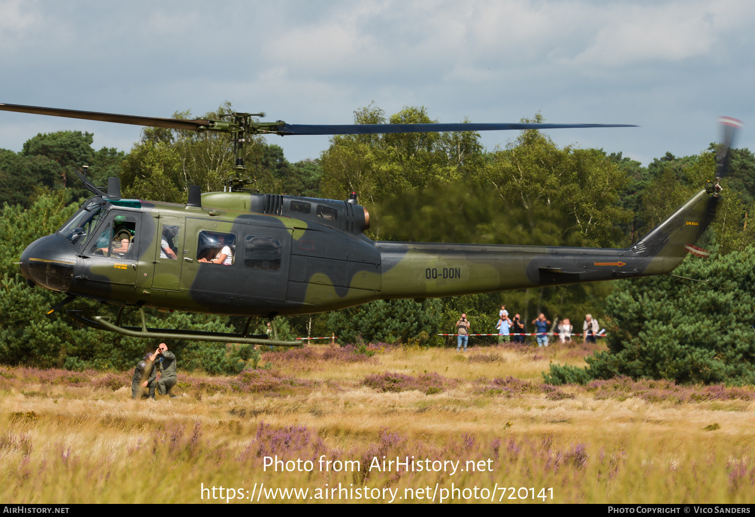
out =
{"type": "Polygon", "coordinates": [[[239,377],[180,372],[179,397],[156,401],[131,400],[131,372],[3,369],[0,500],[755,501],[755,390],[543,384],[587,352],[316,345],[239,377]]]}

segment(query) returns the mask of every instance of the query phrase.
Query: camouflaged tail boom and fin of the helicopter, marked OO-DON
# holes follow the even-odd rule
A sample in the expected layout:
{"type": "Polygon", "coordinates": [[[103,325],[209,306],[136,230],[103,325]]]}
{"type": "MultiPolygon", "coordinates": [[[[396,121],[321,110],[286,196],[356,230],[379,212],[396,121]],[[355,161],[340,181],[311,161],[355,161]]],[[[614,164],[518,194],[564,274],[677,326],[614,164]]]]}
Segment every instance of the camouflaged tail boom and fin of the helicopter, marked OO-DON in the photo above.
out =
{"type": "Polygon", "coordinates": [[[424,299],[665,274],[684,260],[719,202],[720,196],[702,189],[626,249],[376,242],[381,297],[424,299]]]}

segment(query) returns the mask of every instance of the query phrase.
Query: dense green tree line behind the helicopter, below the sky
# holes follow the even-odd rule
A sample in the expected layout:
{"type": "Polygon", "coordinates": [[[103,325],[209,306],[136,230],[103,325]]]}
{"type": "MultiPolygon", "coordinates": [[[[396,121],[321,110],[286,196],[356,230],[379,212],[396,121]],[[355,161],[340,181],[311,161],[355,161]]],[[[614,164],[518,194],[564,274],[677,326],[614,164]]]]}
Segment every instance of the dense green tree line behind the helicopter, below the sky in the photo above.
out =
{"type": "MultiPolygon", "coordinates": [[[[224,103],[202,117],[218,118],[232,111],[233,107],[224,103]]],[[[193,115],[186,111],[174,116],[190,118],[193,115]]],[[[522,122],[543,120],[538,113],[522,122]]],[[[371,104],[356,110],[355,122],[437,121],[422,106],[405,107],[386,116],[382,109],[371,104]]],[[[48,307],[54,305],[59,295],[39,289],[29,291],[12,265],[25,245],[57,229],[75,211],[80,198],[88,195],[75,178],[74,168],[89,165],[88,175],[98,185],[106,184],[109,176],[119,175],[122,191],[129,197],[185,202],[189,185],[200,185],[205,192],[222,189],[233,165],[230,138],[224,134],[145,128],[128,153],[107,148],[96,151],[91,147],[92,141],[92,134],[60,131],[32,137],[21,152],[0,149],[0,203],[4,206],[0,221],[3,243],[0,254],[4,260],[0,272],[7,294],[2,302],[6,307],[0,307],[3,329],[0,330],[0,362],[66,368],[123,368],[143,348],[137,340],[131,343],[125,337],[75,328],[64,318],[45,317],[48,307]],[[19,300],[25,301],[20,304],[19,300]],[[112,342],[112,346],[95,346],[92,340],[112,342]],[[28,346],[25,342],[38,344],[28,346]]],[[[476,132],[461,131],[339,135],[331,138],[328,149],[318,158],[297,163],[288,162],[279,146],[267,143],[263,137],[252,137],[245,146],[245,162],[254,186],[263,192],[325,198],[346,198],[348,192],[358,192],[359,202],[367,205],[375,220],[368,235],[371,238],[615,248],[639,240],[701,188],[705,180],[712,178],[714,152],[713,144],[698,155],[676,157],[667,152],[645,167],[621,152],[581,149],[576,145],[556,146],[541,131],[522,131],[493,150],[482,146],[476,132]]],[[[755,155],[748,149],[732,149],[731,165],[731,174],[724,182],[726,202],[703,238],[703,246],[714,251],[707,263],[713,265],[710,267],[724,269],[728,267],[726,260],[748,257],[755,245],[753,229],[747,231],[747,220],[755,203],[755,155]]],[[[688,259],[683,266],[695,261],[688,259]]],[[[434,334],[452,331],[460,312],[467,312],[477,331],[493,332],[498,307],[506,303],[507,308],[521,313],[528,322],[539,312],[546,312],[550,319],[568,317],[575,322],[581,321],[585,312],[592,312],[612,325],[621,322],[621,328],[616,327],[618,331],[612,333],[621,337],[615,337],[618,341],[612,341],[609,352],[612,357],[618,357],[628,353],[626,343],[650,341],[638,337],[638,329],[629,336],[622,334],[628,322],[622,319],[621,304],[615,301],[636,302],[639,294],[652,290],[652,286],[660,286],[661,291],[668,288],[658,282],[661,281],[600,282],[424,303],[385,300],[311,317],[279,318],[279,328],[283,334],[297,336],[335,332],[349,342],[438,345],[443,340],[434,334]]],[[[663,282],[676,281],[663,279],[663,282]]],[[[668,301],[673,306],[674,300],[668,301]]],[[[84,300],[76,304],[91,314],[109,310],[84,300]]],[[[713,310],[710,317],[715,318],[717,314],[713,310]]],[[[155,312],[149,317],[175,320],[162,321],[162,326],[178,326],[180,319],[182,326],[202,330],[242,325],[233,318],[220,316],[166,316],[155,312]]],[[[655,320],[641,313],[633,313],[633,317],[641,326],[655,325],[648,323],[655,320]]],[[[264,323],[260,319],[257,325],[262,328],[264,323]]],[[[726,330],[721,329],[715,334],[716,339],[722,332],[726,334],[726,330]]],[[[658,339],[666,338],[653,337],[653,340],[658,339]]],[[[184,345],[176,343],[175,346],[180,349],[184,345]]],[[[225,365],[221,368],[223,371],[242,368],[245,361],[253,359],[248,351],[234,352],[236,355],[231,358],[226,347],[220,345],[199,347],[193,353],[196,368],[211,369],[209,365],[214,363],[225,365]],[[211,354],[214,359],[202,359],[205,353],[202,350],[210,349],[214,350],[215,355],[211,354]],[[226,359],[218,359],[221,355],[226,359]],[[242,356],[248,357],[242,359],[242,356]]],[[[711,355],[717,356],[720,353],[711,355]]],[[[608,375],[609,371],[612,374],[641,371],[621,370],[615,365],[612,368],[604,368],[599,375],[608,375]]],[[[593,368],[590,375],[596,375],[598,370],[593,368]]],[[[564,379],[569,377],[563,372],[560,374],[564,379]]],[[[581,374],[569,371],[569,375],[579,377],[581,374]]],[[[643,375],[673,377],[676,374],[645,372],[643,375]]],[[[703,379],[694,374],[677,377],[703,379]]],[[[719,378],[714,377],[704,377],[704,380],[713,382],[719,378]]],[[[744,377],[739,375],[738,378],[744,377]]],[[[553,380],[555,382],[556,377],[553,380]]]]}

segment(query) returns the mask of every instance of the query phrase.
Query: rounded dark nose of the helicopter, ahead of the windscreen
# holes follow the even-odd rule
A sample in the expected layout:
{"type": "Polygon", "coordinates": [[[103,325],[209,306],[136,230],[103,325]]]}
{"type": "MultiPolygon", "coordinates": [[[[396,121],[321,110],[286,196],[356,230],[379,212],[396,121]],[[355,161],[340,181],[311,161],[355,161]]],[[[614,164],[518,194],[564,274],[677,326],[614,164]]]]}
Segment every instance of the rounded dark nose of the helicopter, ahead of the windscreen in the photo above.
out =
{"type": "Polygon", "coordinates": [[[21,254],[21,275],[52,291],[68,291],[73,279],[75,252],[57,233],[38,238],[21,254]]]}

